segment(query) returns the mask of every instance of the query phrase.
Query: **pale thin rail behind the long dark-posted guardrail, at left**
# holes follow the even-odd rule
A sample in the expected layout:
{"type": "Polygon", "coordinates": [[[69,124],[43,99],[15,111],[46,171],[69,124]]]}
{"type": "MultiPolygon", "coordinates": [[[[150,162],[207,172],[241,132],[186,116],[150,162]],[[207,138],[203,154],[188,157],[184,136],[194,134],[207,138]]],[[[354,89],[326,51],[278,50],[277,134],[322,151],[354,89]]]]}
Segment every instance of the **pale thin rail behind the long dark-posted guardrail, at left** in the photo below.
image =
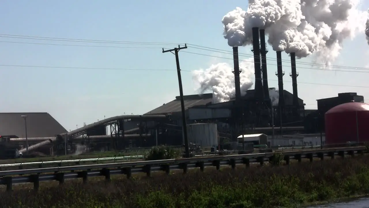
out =
{"type": "Polygon", "coordinates": [[[39,168],[42,168],[42,165],[44,164],[58,164],[59,166],[62,166],[62,164],[74,162],[77,165],[79,165],[80,162],[97,162],[98,163],[100,161],[135,160],[135,159],[142,159],[142,158],[144,158],[144,155],[130,155],[130,156],[104,157],[104,158],[85,158],[85,159],[74,159],[74,160],[51,160],[51,161],[39,161],[39,162],[18,162],[18,163],[10,163],[10,164],[0,164],[0,170],[2,168],[15,167],[15,166],[18,166],[19,169],[23,169],[23,166],[28,166],[28,165],[38,165],[39,168]]]}

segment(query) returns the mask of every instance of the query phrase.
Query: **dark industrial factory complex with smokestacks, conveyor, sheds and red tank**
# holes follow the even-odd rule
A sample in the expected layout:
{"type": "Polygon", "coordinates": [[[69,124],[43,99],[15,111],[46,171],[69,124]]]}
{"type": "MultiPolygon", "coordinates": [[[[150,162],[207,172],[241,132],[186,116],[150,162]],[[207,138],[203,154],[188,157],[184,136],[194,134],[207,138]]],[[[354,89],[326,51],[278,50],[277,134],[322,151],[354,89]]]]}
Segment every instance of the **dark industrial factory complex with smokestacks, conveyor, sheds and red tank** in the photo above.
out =
{"type": "MultiPolygon", "coordinates": [[[[283,89],[282,51],[276,51],[278,90],[268,85],[265,30],[252,28],[255,89],[241,92],[238,47],[233,47],[235,97],[213,103],[213,94],[184,95],[189,142],[204,148],[232,148],[252,143],[276,146],[333,145],[369,141],[369,105],[356,93],[317,100],[317,110],[305,110],[298,97],[295,54],[290,53],[293,92],[283,89]],[[278,94],[278,101],[270,93],[278,94]],[[229,148],[229,147],[228,147],[229,148]]],[[[21,154],[73,154],[123,150],[158,144],[182,145],[180,96],[143,115],[122,115],[67,131],[48,113],[0,113],[3,157],[21,154]],[[27,130],[25,130],[27,129],[27,130]]]]}

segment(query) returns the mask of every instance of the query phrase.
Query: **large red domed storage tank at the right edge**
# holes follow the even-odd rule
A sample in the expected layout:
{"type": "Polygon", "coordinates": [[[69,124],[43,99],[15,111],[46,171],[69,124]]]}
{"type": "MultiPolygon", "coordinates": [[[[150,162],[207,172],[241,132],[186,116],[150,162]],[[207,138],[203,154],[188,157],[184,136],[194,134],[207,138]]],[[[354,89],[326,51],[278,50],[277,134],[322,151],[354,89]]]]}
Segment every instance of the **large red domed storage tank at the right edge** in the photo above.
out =
{"type": "Polygon", "coordinates": [[[369,141],[369,105],[344,103],[325,113],[325,143],[369,141]]]}

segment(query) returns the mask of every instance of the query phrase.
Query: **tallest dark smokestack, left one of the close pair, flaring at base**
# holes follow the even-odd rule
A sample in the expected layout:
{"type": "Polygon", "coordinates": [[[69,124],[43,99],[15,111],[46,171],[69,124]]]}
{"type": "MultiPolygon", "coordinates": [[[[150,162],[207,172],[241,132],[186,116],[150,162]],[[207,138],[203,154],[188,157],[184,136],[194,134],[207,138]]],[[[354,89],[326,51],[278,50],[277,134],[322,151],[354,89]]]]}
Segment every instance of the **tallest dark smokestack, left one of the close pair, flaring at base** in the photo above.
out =
{"type": "Polygon", "coordinates": [[[254,52],[254,67],[255,67],[255,98],[264,100],[263,83],[261,80],[260,68],[260,48],[259,48],[259,28],[252,28],[252,52],[254,52]]]}

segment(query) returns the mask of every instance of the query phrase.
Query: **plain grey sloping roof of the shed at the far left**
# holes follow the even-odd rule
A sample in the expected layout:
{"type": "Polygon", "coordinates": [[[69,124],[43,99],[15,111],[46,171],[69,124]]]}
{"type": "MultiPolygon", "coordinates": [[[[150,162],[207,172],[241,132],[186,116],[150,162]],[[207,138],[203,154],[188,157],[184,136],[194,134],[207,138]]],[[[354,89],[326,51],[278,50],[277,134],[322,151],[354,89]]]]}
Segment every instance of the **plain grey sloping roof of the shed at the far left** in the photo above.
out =
{"type": "Polygon", "coordinates": [[[68,132],[48,113],[0,113],[0,135],[25,137],[27,115],[27,137],[54,137],[68,132]]]}

